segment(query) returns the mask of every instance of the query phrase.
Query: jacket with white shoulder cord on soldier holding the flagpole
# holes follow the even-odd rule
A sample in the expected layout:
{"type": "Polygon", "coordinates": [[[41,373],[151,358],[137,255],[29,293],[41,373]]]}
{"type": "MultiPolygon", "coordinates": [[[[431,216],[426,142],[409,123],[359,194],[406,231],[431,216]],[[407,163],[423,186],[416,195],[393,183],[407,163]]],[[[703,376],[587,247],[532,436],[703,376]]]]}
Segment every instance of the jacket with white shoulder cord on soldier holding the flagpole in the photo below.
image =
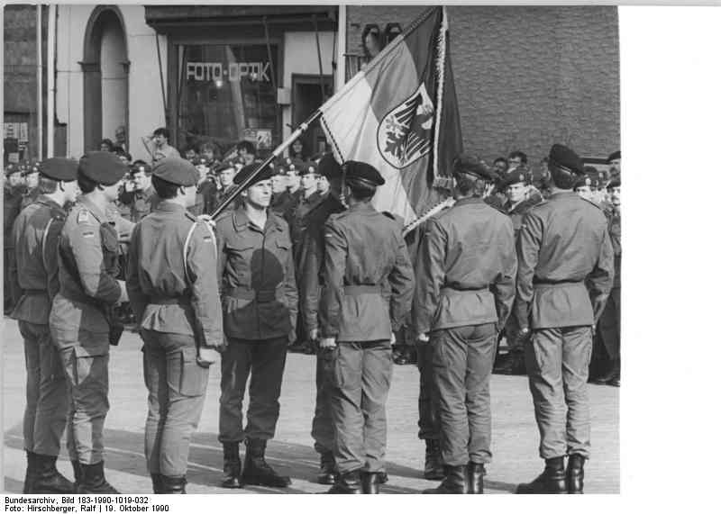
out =
{"type": "Polygon", "coordinates": [[[195,223],[182,205],[160,202],[135,226],[128,297],[141,328],[195,336],[199,346],[219,347],[224,337],[215,239],[202,221],[190,234],[195,223]]]}

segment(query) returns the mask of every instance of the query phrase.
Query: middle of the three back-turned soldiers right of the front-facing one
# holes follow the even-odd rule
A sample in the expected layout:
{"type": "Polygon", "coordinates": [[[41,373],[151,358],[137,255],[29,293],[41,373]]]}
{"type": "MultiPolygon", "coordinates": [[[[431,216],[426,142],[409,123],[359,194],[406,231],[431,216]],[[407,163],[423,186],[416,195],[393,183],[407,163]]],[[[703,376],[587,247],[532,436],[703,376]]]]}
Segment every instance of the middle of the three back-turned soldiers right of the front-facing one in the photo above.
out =
{"type": "Polygon", "coordinates": [[[434,347],[446,475],[425,492],[482,494],[491,459],[488,387],[498,329],[515,296],[516,251],[511,221],[480,197],[493,176],[462,155],[453,176],[457,201],[428,221],[415,269],[413,325],[434,347]]]}

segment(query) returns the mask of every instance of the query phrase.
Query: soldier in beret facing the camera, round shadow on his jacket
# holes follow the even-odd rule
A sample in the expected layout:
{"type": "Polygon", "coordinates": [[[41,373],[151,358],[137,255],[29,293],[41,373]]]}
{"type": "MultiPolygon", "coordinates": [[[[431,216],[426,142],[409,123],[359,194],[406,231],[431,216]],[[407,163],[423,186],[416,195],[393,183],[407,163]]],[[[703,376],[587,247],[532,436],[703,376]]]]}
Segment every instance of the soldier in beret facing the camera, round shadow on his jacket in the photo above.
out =
{"type": "Polygon", "coordinates": [[[287,223],[269,210],[270,176],[258,163],[243,167],[236,184],[251,181],[242,203],[217,221],[218,278],[228,347],[221,361],[220,429],[224,449],[224,487],[242,483],[287,487],[265,460],[275,436],[287,345],[295,338],[297,288],[287,223]],[[249,388],[248,419],[242,400],[249,388]],[[241,466],[239,443],[245,440],[241,466]],[[243,468],[243,469],[242,469],[243,468]],[[241,474],[242,469],[242,474],[241,474]]]}

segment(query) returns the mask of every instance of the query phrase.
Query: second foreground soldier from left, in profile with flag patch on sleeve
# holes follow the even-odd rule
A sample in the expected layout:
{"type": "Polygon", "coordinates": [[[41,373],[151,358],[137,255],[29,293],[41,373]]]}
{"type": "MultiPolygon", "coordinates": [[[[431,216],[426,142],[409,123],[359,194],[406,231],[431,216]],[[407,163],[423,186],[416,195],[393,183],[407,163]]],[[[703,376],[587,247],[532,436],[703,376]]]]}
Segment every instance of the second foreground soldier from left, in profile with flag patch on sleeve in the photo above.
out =
{"type": "MultiPolygon", "coordinates": [[[[108,359],[120,333],[108,312],[127,302],[118,239],[105,211],[117,198],[126,167],[108,152],[80,159],[82,195],[60,232],[59,293],[50,310],[50,335],[69,384],[68,455],[78,492],[116,494],[105,481],[103,425],[109,409],[108,359]]],[[[122,326],[121,326],[122,327],[122,326]]]]}

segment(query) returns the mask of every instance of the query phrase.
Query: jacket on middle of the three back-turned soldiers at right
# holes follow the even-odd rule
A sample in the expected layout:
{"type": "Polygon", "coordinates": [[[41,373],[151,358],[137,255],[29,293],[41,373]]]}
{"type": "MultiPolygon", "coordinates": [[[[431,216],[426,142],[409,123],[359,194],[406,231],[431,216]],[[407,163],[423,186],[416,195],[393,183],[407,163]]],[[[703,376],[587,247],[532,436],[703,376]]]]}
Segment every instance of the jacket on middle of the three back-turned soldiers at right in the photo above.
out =
{"type": "Polygon", "coordinates": [[[516,284],[508,217],[477,197],[428,221],[415,270],[413,324],[418,333],[506,324],[516,284]]]}

